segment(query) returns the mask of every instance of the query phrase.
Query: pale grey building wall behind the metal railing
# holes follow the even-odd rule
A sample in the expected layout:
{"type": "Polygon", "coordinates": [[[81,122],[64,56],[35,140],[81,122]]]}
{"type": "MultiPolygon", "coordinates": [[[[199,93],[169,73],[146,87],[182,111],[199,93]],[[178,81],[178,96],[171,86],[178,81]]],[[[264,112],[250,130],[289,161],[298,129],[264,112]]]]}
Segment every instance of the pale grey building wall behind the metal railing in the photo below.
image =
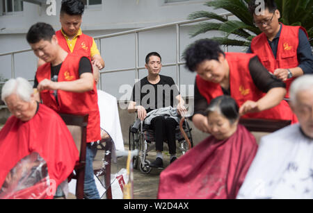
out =
{"type": "MultiPolygon", "coordinates": [[[[48,16],[46,7],[24,2],[24,12],[17,15],[0,16],[0,53],[29,49],[25,35],[35,22],[47,22],[58,30],[61,0],[57,0],[56,16],[48,16]]],[[[133,28],[155,26],[170,22],[185,20],[191,12],[209,10],[203,6],[205,1],[186,1],[180,3],[164,3],[163,0],[103,0],[101,7],[88,8],[83,15],[83,32],[90,36],[107,35],[133,28]]],[[[214,11],[221,13],[223,11],[214,11]]],[[[188,44],[203,37],[213,37],[216,33],[207,33],[190,38],[193,25],[180,28],[180,56],[188,44]]],[[[176,61],[176,29],[175,27],[161,28],[154,31],[139,33],[139,66],[143,67],[145,56],[150,51],[158,51],[163,63],[176,61]]],[[[135,67],[135,37],[123,35],[102,40],[101,54],[106,62],[106,70],[135,67]]],[[[36,58],[32,52],[21,53],[15,57],[15,76],[33,79],[35,75],[36,58]],[[20,56],[19,56],[20,55],[20,56]]],[[[0,74],[10,78],[10,56],[0,56],[0,74]]],[[[180,66],[180,82],[182,85],[193,85],[195,74],[180,66]]],[[[140,71],[140,78],[146,76],[145,69],[140,71]]],[[[163,67],[161,74],[172,76],[177,81],[176,67],[163,67]]],[[[125,92],[119,92],[122,85],[134,85],[135,71],[122,71],[102,75],[102,89],[120,99],[125,92]]],[[[186,96],[192,96],[193,91],[187,91],[186,96]]]]}

